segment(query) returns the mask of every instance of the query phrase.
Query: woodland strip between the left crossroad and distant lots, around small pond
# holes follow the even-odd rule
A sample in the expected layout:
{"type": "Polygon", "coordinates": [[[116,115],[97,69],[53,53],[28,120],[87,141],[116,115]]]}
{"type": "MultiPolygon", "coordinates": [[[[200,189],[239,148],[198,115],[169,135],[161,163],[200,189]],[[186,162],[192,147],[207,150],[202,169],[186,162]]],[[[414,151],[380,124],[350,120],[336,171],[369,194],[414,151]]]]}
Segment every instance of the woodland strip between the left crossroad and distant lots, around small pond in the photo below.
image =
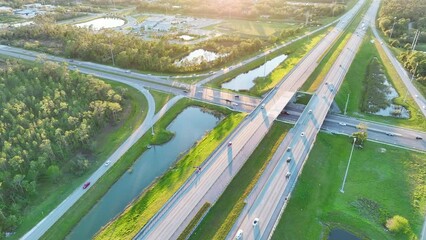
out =
{"type": "Polygon", "coordinates": [[[0,44],[103,64],[112,64],[112,57],[115,56],[115,63],[120,67],[157,72],[206,70],[256,52],[262,47],[262,42],[258,39],[222,36],[189,48],[170,44],[166,40],[146,41],[138,36],[113,30],[93,32],[71,25],[56,25],[53,20],[45,17],[35,25],[3,31],[0,33],[0,44]],[[192,50],[199,48],[226,55],[200,65],[179,67],[175,64],[192,50]]]}

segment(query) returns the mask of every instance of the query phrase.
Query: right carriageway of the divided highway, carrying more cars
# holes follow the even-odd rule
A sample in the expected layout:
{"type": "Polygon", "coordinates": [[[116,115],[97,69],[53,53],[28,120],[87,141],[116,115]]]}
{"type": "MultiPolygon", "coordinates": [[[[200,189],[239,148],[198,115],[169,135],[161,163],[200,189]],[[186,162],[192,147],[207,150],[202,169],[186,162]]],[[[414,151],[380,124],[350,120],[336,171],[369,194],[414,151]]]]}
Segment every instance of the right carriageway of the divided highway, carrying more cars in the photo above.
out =
{"type": "Polygon", "coordinates": [[[233,238],[238,230],[243,232],[242,239],[269,239],[272,236],[335,94],[365,35],[362,25],[366,21],[375,20],[374,16],[378,11],[379,3],[379,0],[373,1],[364,20],[357,27],[356,34],[353,34],[346,43],[323,83],[279,146],[267,169],[246,199],[247,204],[227,239],[233,238]],[[254,226],[255,218],[259,220],[254,226]]]}

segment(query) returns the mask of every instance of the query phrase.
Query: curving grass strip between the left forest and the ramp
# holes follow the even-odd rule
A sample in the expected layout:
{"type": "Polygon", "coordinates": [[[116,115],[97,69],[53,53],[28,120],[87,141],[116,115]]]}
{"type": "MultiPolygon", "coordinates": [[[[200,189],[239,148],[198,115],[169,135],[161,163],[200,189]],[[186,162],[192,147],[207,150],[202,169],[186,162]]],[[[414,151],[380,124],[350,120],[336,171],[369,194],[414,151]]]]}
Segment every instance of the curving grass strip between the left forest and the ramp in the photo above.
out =
{"type": "Polygon", "coordinates": [[[147,100],[136,89],[127,85],[115,82],[108,82],[114,88],[123,87],[127,89],[127,97],[125,100],[124,114],[122,120],[113,127],[104,129],[103,132],[92,140],[95,152],[91,156],[92,166],[81,177],[75,177],[71,174],[64,174],[62,181],[52,183],[51,185],[40,185],[37,191],[38,198],[33,200],[27,208],[22,223],[16,230],[16,234],[11,239],[18,239],[34,227],[42,218],[50,211],[58,206],[66,197],[69,196],[76,188],[90,176],[100,165],[110,156],[118,146],[126,140],[135,129],[139,127],[145,119],[147,113],[147,100]]]}

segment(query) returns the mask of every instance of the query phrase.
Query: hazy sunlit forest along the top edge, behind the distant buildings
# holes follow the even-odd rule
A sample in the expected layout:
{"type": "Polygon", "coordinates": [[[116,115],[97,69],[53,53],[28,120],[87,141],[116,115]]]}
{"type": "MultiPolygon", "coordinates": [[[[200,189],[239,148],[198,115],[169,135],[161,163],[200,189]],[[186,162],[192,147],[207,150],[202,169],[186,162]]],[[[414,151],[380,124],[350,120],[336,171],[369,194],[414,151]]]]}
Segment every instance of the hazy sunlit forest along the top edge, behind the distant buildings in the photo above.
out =
{"type": "Polygon", "coordinates": [[[340,15],[346,8],[342,4],[296,5],[275,0],[158,0],[143,1],[137,9],[140,12],[157,11],[248,19],[268,16],[300,21],[304,21],[309,14],[310,20],[317,21],[324,17],[340,15]]]}

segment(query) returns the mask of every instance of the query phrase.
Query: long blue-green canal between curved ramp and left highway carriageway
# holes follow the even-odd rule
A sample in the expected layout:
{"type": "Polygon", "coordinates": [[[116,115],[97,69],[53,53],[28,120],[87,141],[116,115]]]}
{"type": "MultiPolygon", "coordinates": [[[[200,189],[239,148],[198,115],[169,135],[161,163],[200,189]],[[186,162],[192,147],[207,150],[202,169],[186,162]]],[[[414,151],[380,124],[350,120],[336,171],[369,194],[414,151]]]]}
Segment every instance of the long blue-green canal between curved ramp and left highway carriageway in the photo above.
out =
{"type": "Polygon", "coordinates": [[[120,214],[126,206],[161,176],[206,132],[213,129],[219,119],[200,108],[189,107],[180,113],[167,127],[175,136],[169,142],[153,146],[137,159],[131,171],[111,186],[108,192],[89,211],[68,235],[67,239],[90,239],[111,219],[120,214]]]}

